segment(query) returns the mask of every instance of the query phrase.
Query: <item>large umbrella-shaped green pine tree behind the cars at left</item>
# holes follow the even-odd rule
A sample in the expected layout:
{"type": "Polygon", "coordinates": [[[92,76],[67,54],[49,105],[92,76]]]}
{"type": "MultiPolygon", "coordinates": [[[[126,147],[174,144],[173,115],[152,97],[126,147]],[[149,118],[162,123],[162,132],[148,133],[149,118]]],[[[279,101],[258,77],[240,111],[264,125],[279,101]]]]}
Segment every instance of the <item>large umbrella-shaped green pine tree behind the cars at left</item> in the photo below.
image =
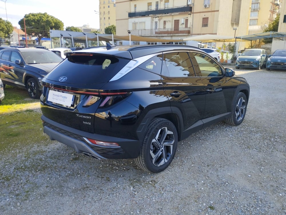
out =
{"type": "Polygon", "coordinates": [[[50,30],[63,30],[63,22],[47,13],[29,13],[25,14],[18,24],[28,35],[35,35],[38,38],[39,45],[43,37],[49,37],[50,30]]]}

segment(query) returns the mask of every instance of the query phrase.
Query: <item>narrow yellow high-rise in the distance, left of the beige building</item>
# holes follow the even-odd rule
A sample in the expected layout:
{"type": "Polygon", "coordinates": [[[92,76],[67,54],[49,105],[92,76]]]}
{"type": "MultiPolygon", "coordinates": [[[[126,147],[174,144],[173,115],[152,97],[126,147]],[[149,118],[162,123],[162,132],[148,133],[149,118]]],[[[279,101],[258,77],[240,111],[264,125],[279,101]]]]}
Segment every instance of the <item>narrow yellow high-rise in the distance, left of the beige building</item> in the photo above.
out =
{"type": "MultiPolygon", "coordinates": [[[[116,25],[116,1],[115,0],[100,0],[99,11],[95,11],[99,15],[100,33],[105,32],[105,28],[110,25],[116,25]]],[[[118,11],[120,13],[120,11],[118,11]]]]}

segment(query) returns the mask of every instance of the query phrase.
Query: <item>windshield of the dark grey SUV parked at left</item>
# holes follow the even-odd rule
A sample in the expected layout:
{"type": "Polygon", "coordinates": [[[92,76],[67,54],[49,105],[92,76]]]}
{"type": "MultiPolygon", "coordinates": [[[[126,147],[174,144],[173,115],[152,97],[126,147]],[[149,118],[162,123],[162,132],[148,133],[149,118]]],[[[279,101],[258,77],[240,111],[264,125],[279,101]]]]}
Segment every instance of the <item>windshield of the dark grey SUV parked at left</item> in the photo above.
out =
{"type": "Polygon", "coordinates": [[[29,51],[22,52],[22,55],[27,64],[59,63],[63,60],[52,51],[29,51]]]}

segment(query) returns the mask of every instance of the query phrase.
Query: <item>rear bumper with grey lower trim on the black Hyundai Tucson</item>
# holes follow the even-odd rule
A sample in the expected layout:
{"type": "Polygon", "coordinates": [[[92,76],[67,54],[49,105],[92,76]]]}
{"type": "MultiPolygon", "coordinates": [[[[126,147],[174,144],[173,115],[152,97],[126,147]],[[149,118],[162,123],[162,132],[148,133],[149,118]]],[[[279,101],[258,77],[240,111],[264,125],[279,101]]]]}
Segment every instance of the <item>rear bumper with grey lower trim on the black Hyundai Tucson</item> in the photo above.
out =
{"type": "Polygon", "coordinates": [[[43,120],[43,132],[47,134],[51,140],[57,140],[73,148],[77,153],[84,153],[96,159],[126,159],[138,157],[139,149],[142,144],[142,142],[138,140],[83,132],[49,120],[43,115],[41,116],[41,119],[43,120]],[[107,147],[89,144],[84,138],[91,138],[104,142],[116,142],[119,146],[107,147]]]}

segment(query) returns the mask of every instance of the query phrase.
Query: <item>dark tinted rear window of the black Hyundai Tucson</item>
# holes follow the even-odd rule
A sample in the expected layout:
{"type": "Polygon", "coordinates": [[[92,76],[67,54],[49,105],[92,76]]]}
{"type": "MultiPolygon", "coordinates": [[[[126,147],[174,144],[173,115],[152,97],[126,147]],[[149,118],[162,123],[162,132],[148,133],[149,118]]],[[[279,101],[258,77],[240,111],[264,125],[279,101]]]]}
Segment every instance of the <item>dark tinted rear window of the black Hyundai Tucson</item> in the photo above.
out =
{"type": "Polygon", "coordinates": [[[49,73],[48,79],[57,80],[60,76],[68,76],[69,81],[78,84],[108,82],[129,61],[112,55],[70,53],[49,73]]]}

